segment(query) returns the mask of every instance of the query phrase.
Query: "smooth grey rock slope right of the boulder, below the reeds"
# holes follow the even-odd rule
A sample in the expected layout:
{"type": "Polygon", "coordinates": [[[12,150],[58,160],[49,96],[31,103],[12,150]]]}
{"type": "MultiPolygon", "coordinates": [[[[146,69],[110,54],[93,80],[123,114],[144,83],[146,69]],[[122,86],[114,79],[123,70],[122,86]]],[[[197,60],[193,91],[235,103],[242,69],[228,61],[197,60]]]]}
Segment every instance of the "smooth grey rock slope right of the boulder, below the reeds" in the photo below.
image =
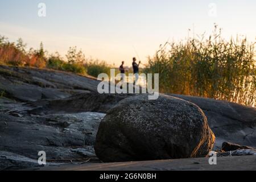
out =
{"type": "Polygon", "coordinates": [[[256,108],[233,102],[193,96],[174,95],[199,106],[216,136],[214,150],[221,150],[223,142],[238,143],[256,148],[256,108]]]}

